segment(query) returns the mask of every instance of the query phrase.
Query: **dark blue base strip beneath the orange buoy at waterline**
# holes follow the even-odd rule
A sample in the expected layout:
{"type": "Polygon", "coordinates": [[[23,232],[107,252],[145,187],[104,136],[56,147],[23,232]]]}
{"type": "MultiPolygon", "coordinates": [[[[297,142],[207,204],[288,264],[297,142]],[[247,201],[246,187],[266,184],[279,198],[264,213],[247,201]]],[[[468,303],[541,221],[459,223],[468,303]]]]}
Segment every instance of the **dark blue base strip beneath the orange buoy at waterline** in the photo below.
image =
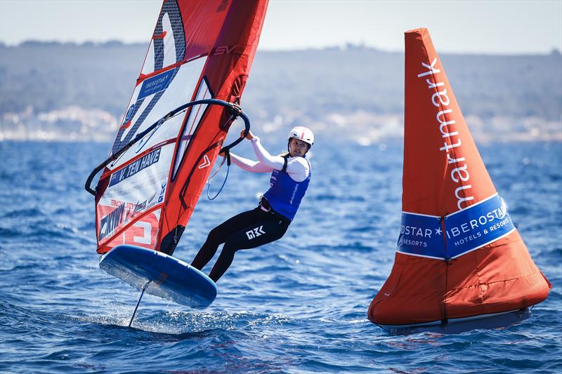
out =
{"type": "Polygon", "coordinates": [[[377,323],[377,326],[392,335],[411,335],[416,333],[459,334],[478,328],[504,328],[528,319],[530,316],[531,311],[527,307],[509,312],[448,319],[447,323],[442,323],[441,321],[414,323],[410,325],[381,325],[377,323]]]}

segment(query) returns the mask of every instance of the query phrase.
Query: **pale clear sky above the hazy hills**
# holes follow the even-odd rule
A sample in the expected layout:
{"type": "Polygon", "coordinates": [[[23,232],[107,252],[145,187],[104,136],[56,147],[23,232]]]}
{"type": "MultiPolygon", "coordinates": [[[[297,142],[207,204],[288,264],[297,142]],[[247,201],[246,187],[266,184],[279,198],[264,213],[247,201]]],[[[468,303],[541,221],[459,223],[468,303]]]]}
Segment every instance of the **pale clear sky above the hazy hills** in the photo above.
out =
{"type": "MultiPolygon", "coordinates": [[[[160,0],[0,0],[0,41],[147,43],[160,0]]],[[[442,53],[562,50],[562,0],[271,0],[264,51],[364,44],[403,51],[403,32],[427,27],[442,53]]]]}

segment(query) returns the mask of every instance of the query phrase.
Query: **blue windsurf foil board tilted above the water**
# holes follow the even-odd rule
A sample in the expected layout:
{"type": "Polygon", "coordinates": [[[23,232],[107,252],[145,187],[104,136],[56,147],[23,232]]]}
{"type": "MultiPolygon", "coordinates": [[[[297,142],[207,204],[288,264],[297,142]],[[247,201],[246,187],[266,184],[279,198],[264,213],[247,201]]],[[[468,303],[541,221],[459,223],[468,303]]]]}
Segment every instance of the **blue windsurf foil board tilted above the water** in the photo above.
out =
{"type": "Polygon", "coordinates": [[[195,267],[162,252],[117,246],[100,260],[100,268],[145,293],[203,309],[216,298],[214,281],[195,267]]]}

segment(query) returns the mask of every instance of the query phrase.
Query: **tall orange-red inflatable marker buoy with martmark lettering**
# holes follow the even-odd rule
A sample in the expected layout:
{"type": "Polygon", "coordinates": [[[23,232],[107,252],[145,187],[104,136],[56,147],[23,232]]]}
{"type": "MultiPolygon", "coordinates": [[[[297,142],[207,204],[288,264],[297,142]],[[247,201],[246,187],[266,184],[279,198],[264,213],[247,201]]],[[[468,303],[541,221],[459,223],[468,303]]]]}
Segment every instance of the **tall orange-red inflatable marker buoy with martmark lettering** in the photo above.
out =
{"type": "Polygon", "coordinates": [[[542,302],[550,283],[497,195],[426,29],[405,33],[403,218],[370,321],[406,325],[542,302]]]}

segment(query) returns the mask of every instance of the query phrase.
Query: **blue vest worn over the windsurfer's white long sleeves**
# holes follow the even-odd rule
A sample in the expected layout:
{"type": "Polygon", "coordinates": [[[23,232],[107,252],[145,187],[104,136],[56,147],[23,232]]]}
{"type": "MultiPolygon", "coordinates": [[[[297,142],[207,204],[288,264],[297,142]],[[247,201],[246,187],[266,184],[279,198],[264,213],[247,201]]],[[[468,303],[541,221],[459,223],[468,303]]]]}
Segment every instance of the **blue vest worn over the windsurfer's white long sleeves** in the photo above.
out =
{"type": "Polygon", "coordinates": [[[303,157],[308,163],[308,177],[302,182],[296,182],[287,171],[274,170],[269,180],[270,187],[263,196],[274,211],[293,220],[296,211],[301,205],[301,200],[311,182],[312,167],[306,156],[303,157]]]}

